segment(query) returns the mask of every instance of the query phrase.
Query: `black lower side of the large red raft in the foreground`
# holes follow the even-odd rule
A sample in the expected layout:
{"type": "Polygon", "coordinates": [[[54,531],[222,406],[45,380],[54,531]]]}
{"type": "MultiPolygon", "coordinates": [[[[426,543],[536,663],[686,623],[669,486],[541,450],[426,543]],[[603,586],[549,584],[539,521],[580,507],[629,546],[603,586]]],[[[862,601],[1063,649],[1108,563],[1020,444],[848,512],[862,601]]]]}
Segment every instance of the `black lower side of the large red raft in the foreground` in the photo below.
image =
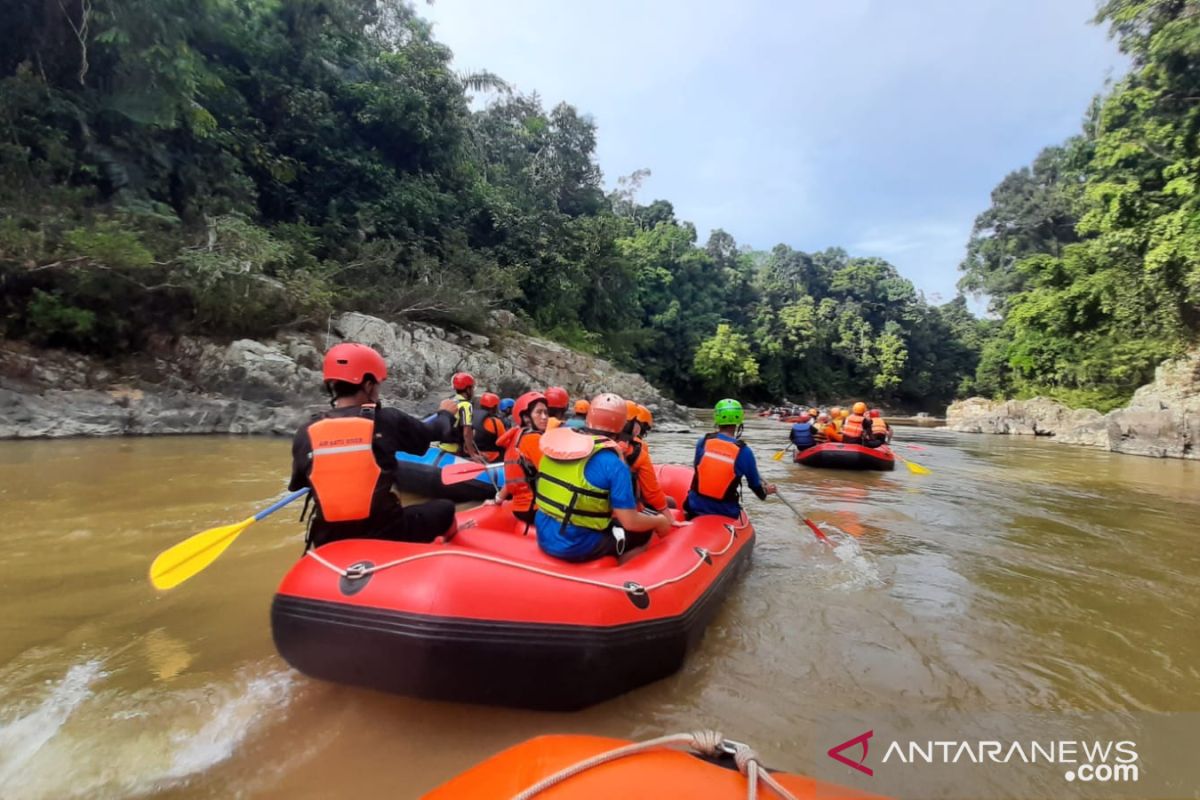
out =
{"type": "Polygon", "coordinates": [[[574,711],[678,670],[751,549],[744,546],[686,613],[670,619],[618,627],[494,622],[276,595],[271,632],[289,664],[320,680],[574,711]]]}

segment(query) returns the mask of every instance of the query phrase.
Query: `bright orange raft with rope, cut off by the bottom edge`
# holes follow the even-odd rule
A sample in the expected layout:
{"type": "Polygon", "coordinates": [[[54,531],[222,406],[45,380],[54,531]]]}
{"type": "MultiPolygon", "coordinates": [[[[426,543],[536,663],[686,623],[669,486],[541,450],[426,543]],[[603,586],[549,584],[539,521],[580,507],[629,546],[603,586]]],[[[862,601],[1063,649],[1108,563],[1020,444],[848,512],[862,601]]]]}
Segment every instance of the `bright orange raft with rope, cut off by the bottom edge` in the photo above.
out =
{"type": "Polygon", "coordinates": [[[752,759],[752,753],[744,745],[721,740],[720,734],[688,734],[670,739],[679,740],[677,746],[686,742],[692,752],[655,746],[654,742],[632,745],[622,739],[601,736],[538,736],[443,783],[426,794],[424,800],[744,800],[755,796],[749,794],[751,783],[756,784],[757,796],[764,800],[877,798],[803,775],[768,771],[758,766],[756,759],[751,766],[748,756],[752,759]],[[643,748],[646,745],[650,747],[643,748]],[[736,758],[739,750],[743,750],[740,759],[736,758]],[[619,756],[620,752],[629,754],[619,756]],[[606,753],[617,757],[588,765],[601,760],[606,753]],[[550,783],[553,784],[547,786],[550,783]]]}

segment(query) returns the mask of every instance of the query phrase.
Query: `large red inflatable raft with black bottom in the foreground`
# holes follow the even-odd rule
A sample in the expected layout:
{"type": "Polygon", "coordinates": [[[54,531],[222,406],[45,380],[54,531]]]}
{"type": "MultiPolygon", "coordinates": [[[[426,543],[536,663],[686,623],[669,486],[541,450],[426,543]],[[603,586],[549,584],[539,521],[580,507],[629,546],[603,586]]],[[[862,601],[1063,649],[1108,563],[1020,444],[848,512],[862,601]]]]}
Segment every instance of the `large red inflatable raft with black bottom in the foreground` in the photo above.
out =
{"type": "MultiPolygon", "coordinates": [[[[680,506],[691,474],[659,468],[680,506]]],[[[271,606],[280,655],[313,678],[389,692],[580,709],[679,669],[755,539],[749,521],[700,517],[622,564],[569,564],[506,506],[458,524],[448,543],[347,540],[306,553],[271,606]]]]}

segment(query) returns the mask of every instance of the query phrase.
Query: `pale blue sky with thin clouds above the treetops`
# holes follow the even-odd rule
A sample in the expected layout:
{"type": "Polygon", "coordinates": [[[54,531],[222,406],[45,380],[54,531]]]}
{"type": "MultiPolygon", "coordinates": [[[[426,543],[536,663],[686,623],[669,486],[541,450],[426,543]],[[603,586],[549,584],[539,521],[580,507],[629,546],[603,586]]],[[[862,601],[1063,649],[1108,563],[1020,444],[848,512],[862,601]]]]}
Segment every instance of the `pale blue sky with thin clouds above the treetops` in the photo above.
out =
{"type": "MultiPolygon", "coordinates": [[[[948,300],[992,187],[1076,133],[1124,60],[1093,0],[436,0],[461,71],[599,127],[700,229],[880,255],[948,300]]],[[[932,297],[931,297],[932,299],[932,297]]]]}

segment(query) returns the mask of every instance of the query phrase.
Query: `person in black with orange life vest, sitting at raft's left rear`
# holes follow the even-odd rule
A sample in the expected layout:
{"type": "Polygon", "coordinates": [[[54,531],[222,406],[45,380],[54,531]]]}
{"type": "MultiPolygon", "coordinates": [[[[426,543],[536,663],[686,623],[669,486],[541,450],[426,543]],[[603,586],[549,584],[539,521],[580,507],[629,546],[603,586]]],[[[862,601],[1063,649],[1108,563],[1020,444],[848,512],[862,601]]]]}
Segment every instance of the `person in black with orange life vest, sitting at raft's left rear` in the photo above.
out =
{"type": "Polygon", "coordinates": [[[392,492],[396,452],[424,453],[433,431],[379,403],[388,379],[383,356],[366,344],[343,342],[325,354],[322,383],[329,411],[314,416],[292,440],[288,491],[312,489],[307,547],[342,539],[432,542],[457,531],[450,500],[402,506],[392,492]]]}

